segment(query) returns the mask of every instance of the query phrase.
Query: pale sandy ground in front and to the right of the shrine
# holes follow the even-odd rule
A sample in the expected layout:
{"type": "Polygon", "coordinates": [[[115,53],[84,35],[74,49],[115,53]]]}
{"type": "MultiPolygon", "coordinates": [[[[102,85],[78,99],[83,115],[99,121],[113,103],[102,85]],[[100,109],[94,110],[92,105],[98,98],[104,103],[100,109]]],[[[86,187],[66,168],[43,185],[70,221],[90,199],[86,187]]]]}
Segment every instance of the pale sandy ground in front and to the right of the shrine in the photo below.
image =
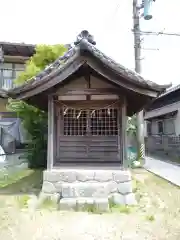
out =
{"type": "Polygon", "coordinates": [[[0,196],[2,240],[179,240],[180,189],[154,175],[134,172],[138,206],[130,212],[60,212],[53,208],[32,211],[17,196],[0,196]]]}

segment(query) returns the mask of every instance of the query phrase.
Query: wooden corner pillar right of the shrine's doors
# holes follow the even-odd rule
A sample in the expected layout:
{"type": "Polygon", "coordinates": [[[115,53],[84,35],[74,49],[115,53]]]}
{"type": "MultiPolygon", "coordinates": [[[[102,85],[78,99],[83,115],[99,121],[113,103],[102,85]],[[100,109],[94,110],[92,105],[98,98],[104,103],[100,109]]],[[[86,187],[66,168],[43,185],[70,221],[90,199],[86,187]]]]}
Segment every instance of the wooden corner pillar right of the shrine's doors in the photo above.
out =
{"type": "Polygon", "coordinates": [[[127,159],[127,104],[126,98],[123,100],[123,104],[121,105],[121,161],[123,167],[128,167],[128,159],[127,159]]]}

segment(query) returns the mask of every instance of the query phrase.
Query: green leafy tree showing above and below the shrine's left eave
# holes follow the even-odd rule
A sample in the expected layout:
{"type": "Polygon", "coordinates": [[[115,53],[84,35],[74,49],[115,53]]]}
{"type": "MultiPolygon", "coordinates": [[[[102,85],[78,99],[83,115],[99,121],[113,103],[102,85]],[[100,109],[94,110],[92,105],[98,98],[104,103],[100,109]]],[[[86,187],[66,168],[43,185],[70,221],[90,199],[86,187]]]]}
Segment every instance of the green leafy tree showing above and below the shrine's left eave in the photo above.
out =
{"type": "MultiPolygon", "coordinates": [[[[35,54],[26,62],[25,71],[15,80],[22,85],[41,72],[46,66],[62,56],[67,49],[64,45],[37,45],[35,54]]],[[[47,158],[47,113],[23,101],[9,99],[8,109],[16,112],[29,133],[27,159],[29,167],[45,167],[47,158]]]]}

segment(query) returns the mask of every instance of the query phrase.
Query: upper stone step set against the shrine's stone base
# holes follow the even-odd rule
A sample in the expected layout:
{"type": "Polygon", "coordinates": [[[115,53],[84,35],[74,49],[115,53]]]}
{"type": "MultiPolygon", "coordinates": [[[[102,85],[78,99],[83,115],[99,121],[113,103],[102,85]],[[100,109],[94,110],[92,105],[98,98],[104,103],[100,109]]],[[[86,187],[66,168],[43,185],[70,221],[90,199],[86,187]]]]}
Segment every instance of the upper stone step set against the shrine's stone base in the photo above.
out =
{"type": "Polygon", "coordinates": [[[62,198],[108,198],[109,193],[109,182],[74,182],[61,185],[62,198]]]}

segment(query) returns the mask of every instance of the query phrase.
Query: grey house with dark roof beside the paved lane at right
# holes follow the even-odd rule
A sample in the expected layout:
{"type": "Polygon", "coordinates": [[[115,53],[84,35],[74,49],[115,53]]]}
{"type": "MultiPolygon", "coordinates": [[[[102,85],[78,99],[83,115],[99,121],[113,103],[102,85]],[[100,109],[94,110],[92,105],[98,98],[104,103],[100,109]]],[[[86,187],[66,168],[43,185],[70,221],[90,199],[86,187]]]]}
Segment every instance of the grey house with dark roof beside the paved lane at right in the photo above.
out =
{"type": "Polygon", "coordinates": [[[145,111],[146,150],[150,155],[180,157],[180,85],[170,88],[145,111]]]}

